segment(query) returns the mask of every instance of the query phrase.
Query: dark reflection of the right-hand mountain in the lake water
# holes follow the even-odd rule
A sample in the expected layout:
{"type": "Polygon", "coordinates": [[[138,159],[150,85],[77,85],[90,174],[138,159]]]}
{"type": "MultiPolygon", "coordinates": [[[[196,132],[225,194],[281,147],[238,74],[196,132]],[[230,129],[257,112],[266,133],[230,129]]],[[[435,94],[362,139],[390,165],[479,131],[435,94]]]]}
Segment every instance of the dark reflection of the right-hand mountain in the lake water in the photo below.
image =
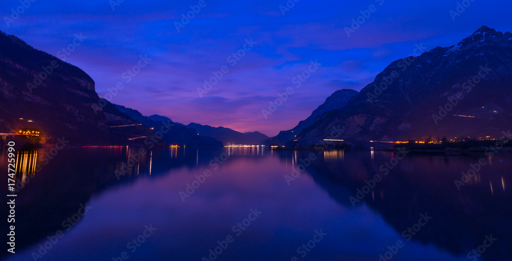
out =
{"type": "MultiPolygon", "coordinates": [[[[409,155],[384,176],[380,164],[389,162],[393,155],[368,157],[365,153],[346,154],[345,161],[350,164],[334,163],[330,157],[319,159],[308,173],[346,207],[352,207],[350,197],[380,175],[382,180],[355,207],[372,207],[399,233],[416,223],[421,213],[428,212],[434,217],[429,231],[418,233],[413,240],[432,242],[455,255],[465,255],[481,245],[485,235],[493,234],[501,241],[487,249],[482,260],[509,260],[512,256],[508,218],[512,215],[512,195],[504,185],[512,177],[503,175],[509,173],[510,163],[495,160],[458,191],[454,181],[460,180],[460,173],[478,162],[479,156],[409,155]],[[500,191],[496,184],[500,184],[500,191]]],[[[500,157],[510,156],[496,156],[500,157]]]]}

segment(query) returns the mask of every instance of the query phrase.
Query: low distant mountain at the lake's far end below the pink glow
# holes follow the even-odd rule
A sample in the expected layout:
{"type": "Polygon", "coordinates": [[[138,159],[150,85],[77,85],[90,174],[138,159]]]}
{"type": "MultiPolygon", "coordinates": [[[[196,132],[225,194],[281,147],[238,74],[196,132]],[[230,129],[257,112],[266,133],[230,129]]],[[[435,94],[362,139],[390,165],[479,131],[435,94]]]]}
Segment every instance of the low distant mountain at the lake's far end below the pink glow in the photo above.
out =
{"type": "Polygon", "coordinates": [[[222,141],[226,145],[258,145],[261,141],[268,139],[268,136],[258,131],[241,133],[224,127],[211,127],[197,123],[190,123],[186,127],[197,130],[200,135],[210,136],[222,141]]]}

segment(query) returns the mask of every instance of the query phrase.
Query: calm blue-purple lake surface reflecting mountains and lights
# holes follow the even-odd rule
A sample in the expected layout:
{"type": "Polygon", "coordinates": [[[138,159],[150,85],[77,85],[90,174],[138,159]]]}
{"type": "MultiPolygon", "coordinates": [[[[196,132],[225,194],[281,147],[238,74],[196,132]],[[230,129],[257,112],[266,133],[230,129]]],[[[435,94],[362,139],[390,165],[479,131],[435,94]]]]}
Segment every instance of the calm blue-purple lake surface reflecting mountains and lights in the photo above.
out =
{"type": "Polygon", "coordinates": [[[166,148],[123,168],[136,148],[48,152],[18,154],[17,251],[2,260],[468,260],[486,235],[470,260],[512,256],[510,154],[166,148]]]}

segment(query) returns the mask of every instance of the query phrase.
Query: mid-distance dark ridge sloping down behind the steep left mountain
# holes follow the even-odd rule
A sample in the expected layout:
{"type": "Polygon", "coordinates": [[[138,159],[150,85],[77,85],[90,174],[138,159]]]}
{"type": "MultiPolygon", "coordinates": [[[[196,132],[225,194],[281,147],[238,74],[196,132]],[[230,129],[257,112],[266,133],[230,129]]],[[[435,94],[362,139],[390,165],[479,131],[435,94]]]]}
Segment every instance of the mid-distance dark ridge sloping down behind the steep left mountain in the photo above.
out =
{"type": "Polygon", "coordinates": [[[160,115],[152,115],[152,118],[142,115],[139,111],[126,108],[121,105],[115,105],[121,112],[130,116],[133,120],[141,123],[147,128],[152,128],[153,131],[160,132],[163,134],[162,140],[165,144],[172,145],[185,145],[193,147],[222,147],[221,141],[216,140],[212,137],[202,136],[193,128],[183,127],[170,120],[170,118],[163,117],[160,115]],[[162,131],[164,130],[164,131],[162,131]],[[165,133],[164,133],[165,132],[165,133]]]}

